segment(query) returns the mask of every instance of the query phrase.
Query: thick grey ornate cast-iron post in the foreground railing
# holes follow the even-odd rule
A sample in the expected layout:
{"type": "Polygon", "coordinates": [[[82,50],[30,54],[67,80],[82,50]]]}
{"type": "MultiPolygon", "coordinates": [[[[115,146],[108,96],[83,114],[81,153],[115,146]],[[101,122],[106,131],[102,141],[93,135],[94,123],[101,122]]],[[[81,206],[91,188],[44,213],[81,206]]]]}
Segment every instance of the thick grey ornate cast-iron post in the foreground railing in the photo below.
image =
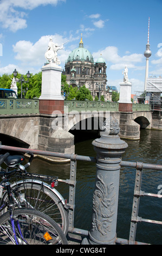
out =
{"type": "Polygon", "coordinates": [[[128,145],[118,136],[116,120],[106,120],[103,127],[101,137],[92,143],[97,158],[92,227],[82,244],[110,245],[116,240],[121,154],[128,145]]]}

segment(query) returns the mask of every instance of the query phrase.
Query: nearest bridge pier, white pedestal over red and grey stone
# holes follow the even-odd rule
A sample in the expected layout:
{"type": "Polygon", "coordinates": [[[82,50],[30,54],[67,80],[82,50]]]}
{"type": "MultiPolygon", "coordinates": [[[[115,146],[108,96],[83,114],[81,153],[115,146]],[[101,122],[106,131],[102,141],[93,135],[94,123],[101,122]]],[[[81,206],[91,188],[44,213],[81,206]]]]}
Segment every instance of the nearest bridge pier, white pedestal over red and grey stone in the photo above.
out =
{"type": "MultiPolygon", "coordinates": [[[[64,114],[64,99],[61,96],[61,73],[61,67],[53,62],[42,67],[38,149],[74,154],[74,136],[64,130],[67,115],[64,114]]],[[[67,161],[57,157],[44,158],[58,162],[67,161]]]]}

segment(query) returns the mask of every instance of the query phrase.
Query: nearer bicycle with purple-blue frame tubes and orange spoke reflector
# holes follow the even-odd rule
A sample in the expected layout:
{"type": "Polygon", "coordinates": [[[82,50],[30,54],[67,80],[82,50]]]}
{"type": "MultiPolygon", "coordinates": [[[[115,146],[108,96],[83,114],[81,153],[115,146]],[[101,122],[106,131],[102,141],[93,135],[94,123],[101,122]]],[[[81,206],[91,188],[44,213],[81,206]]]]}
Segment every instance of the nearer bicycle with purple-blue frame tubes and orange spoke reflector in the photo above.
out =
{"type": "MultiPolygon", "coordinates": [[[[6,153],[0,157],[0,166],[8,156],[9,153],[6,153]]],[[[3,209],[7,210],[0,216],[0,244],[67,245],[66,236],[53,219],[35,209],[22,208],[23,200],[17,200],[9,182],[9,177],[15,172],[15,169],[7,171],[2,167],[0,170],[0,185],[5,188],[8,196],[8,200],[0,208],[1,212],[3,209]]]]}

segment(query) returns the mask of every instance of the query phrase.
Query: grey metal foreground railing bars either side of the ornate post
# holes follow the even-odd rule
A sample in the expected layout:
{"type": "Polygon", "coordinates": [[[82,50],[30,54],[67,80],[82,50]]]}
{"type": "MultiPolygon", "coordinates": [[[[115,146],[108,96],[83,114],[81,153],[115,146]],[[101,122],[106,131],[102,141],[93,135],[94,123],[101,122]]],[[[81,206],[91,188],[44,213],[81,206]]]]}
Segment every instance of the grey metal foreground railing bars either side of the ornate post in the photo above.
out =
{"type": "MultiPolygon", "coordinates": [[[[17,148],[17,147],[10,147],[5,145],[0,145],[0,149],[7,150],[7,151],[18,151],[22,153],[28,153],[29,151],[36,155],[43,155],[43,156],[51,156],[51,157],[59,157],[64,159],[70,160],[70,178],[69,180],[59,179],[61,182],[65,182],[69,185],[69,232],[76,233],[84,236],[88,236],[89,231],[78,229],[74,227],[74,209],[75,209],[75,185],[76,185],[76,162],[77,161],[87,161],[87,162],[94,162],[96,165],[98,164],[97,157],[90,157],[90,156],[81,156],[76,154],[62,154],[62,153],[54,153],[50,151],[42,151],[42,150],[35,150],[35,149],[25,149],[25,148],[17,148]]],[[[137,223],[138,222],[149,222],[149,223],[157,223],[162,224],[160,221],[154,220],[147,220],[138,216],[138,209],[139,209],[139,201],[140,197],[143,196],[151,196],[151,197],[158,197],[161,198],[160,194],[152,194],[152,193],[145,193],[141,191],[141,179],[142,179],[142,170],[143,169],[153,169],[153,170],[162,170],[161,165],[157,164],[147,164],[147,163],[140,163],[140,162],[128,162],[122,161],[120,162],[120,167],[133,167],[136,169],[136,176],[135,176],[135,185],[134,185],[134,197],[133,197],[133,206],[132,206],[132,217],[131,217],[131,227],[129,231],[129,240],[116,238],[115,243],[122,243],[122,244],[143,244],[143,242],[135,241],[135,235],[137,232],[137,223]]],[[[105,168],[105,167],[104,167],[105,168]]],[[[107,168],[108,169],[108,168],[107,168]]],[[[111,171],[112,173],[112,171],[111,171]]]]}

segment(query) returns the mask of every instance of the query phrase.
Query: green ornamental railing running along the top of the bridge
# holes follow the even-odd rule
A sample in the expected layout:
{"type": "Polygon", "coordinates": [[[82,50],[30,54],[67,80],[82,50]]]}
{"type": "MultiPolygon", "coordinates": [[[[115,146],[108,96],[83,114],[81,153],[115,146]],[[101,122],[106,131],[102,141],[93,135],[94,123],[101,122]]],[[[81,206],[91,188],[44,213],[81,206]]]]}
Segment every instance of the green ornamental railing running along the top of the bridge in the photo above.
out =
{"type": "MultiPolygon", "coordinates": [[[[76,101],[64,100],[65,112],[71,111],[119,111],[118,102],[102,102],[102,101],[76,101]]],[[[151,105],[148,104],[132,104],[134,111],[151,111],[151,105]]],[[[0,115],[4,114],[38,114],[39,100],[34,99],[0,99],[0,115]]]]}

